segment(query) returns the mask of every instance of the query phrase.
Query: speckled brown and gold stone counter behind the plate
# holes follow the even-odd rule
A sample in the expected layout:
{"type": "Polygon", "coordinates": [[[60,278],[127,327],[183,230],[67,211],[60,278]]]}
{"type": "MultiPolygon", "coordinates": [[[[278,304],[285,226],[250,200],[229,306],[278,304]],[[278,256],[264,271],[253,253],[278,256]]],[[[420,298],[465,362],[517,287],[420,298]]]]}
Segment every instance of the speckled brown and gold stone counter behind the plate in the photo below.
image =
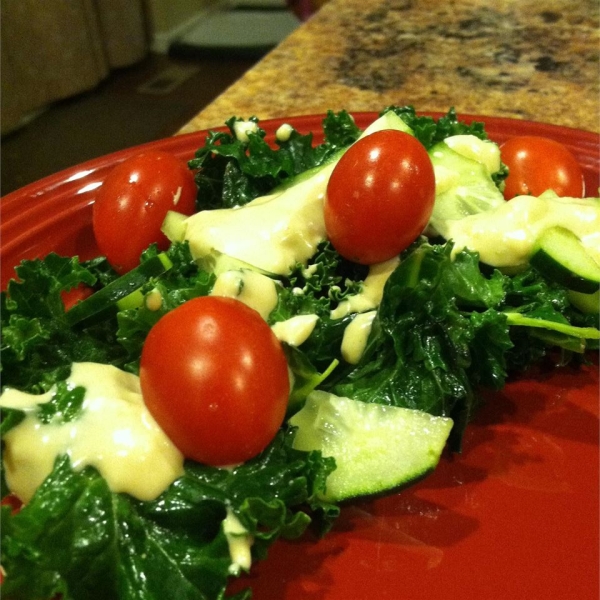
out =
{"type": "Polygon", "coordinates": [[[180,133],[379,111],[512,117],[600,131],[598,0],[330,0],[180,133]]]}

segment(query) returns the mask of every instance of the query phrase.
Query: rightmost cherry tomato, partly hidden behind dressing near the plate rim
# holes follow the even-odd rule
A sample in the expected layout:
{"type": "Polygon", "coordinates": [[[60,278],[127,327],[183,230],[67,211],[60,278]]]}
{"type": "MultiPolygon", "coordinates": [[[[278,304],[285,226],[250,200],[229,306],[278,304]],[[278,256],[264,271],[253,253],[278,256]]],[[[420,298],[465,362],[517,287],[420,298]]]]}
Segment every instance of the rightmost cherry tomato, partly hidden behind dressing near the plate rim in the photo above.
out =
{"type": "Polygon", "coordinates": [[[518,136],[500,146],[508,167],[504,197],[539,196],[554,190],[559,196],[582,198],[583,172],[577,159],[561,143],[543,137],[518,136]]]}

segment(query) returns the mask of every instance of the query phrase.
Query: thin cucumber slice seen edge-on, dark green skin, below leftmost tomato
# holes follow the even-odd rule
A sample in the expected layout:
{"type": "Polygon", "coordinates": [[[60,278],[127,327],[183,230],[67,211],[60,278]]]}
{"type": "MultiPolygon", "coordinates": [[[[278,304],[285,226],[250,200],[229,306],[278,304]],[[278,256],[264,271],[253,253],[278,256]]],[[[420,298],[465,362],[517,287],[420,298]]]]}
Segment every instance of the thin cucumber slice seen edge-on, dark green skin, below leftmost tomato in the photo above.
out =
{"type": "Polygon", "coordinates": [[[172,266],[173,263],[164,252],[153,256],[95,294],[75,304],[65,315],[67,324],[69,327],[82,325],[84,322],[97,318],[104,311],[116,311],[119,307],[132,306],[131,302],[135,302],[136,298],[140,297],[136,291],[150,279],[162,275],[172,266]]]}

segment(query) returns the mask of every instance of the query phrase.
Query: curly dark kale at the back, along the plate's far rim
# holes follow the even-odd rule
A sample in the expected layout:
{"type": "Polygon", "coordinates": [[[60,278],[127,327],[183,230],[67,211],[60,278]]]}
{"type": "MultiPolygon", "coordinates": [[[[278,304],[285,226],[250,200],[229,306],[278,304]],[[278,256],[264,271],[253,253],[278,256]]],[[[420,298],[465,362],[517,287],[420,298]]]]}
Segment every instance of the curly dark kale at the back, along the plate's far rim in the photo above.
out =
{"type": "MultiPolygon", "coordinates": [[[[417,115],[412,106],[388,106],[381,114],[388,111],[399,115],[428,150],[451,135],[472,134],[487,139],[483,123],[459,121],[454,109],[439,119],[417,115]]],[[[227,130],[209,132],[188,163],[196,172],[198,210],[242,206],[296,175],[334,159],[361,133],[346,111],[327,112],[322,123],[324,140],[317,145],[313,144],[312,133],[301,134],[296,130],[292,130],[289,138],[276,138],[270,144],[256,117],[247,121],[254,127],[246,135],[238,136],[236,125],[240,122],[244,119],[234,116],[226,121],[227,130]]],[[[494,180],[499,184],[506,175],[503,167],[494,174],[494,180]]]]}

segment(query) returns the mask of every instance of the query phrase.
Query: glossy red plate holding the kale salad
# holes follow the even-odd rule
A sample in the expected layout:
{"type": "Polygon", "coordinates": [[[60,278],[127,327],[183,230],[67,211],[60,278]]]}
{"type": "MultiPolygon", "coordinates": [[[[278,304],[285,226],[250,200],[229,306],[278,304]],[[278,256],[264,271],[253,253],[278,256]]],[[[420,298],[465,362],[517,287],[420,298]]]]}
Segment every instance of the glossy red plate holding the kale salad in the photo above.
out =
{"type": "MultiPolygon", "coordinates": [[[[439,116],[438,114],[434,116],[439,116]]],[[[375,113],[357,113],[364,127],[375,113]]],[[[600,185],[598,136],[547,124],[461,115],[490,137],[542,135],[566,144],[590,195],[600,185]]],[[[322,139],[320,116],[288,122],[322,139]]],[[[124,150],[2,198],[2,287],[22,258],[54,250],[91,258],[95,190],[142,148],[191,158],[206,132],[124,150]]],[[[252,575],[256,600],[597,600],[599,593],[598,367],[537,373],[489,396],[462,455],[425,481],[354,503],[323,540],[276,543],[252,575]]]]}

